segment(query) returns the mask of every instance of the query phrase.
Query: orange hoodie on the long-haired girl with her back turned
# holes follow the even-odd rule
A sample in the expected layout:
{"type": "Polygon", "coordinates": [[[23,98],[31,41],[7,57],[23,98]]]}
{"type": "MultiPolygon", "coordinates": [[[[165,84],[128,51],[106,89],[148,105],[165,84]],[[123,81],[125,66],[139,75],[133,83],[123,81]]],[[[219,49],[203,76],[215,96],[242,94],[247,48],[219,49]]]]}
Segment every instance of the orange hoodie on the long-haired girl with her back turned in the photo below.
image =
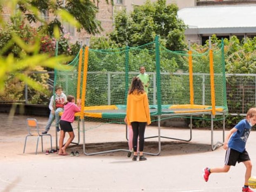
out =
{"type": "Polygon", "coordinates": [[[128,94],[126,107],[128,125],[133,121],[147,122],[147,125],[151,123],[147,93],[137,95],[133,92],[128,94]]]}

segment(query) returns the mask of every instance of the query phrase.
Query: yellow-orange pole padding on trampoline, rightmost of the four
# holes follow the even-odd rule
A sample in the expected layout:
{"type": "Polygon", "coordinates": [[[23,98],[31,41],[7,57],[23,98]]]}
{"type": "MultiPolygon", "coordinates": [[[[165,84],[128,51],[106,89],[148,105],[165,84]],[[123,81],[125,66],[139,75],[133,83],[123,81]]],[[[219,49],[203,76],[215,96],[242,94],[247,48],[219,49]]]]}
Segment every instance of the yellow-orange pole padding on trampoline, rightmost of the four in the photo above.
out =
{"type": "Polygon", "coordinates": [[[211,106],[212,114],[216,115],[216,106],[215,106],[215,88],[214,88],[214,69],[213,69],[213,50],[209,52],[210,59],[210,79],[211,79],[211,106]]]}

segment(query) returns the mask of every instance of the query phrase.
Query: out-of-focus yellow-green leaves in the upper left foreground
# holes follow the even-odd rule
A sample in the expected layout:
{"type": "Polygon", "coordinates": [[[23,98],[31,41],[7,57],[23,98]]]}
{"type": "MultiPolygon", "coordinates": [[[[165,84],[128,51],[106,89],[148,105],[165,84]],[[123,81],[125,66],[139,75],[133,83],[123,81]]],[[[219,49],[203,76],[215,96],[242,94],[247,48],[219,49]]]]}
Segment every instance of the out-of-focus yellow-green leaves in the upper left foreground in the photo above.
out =
{"type": "MultiPolygon", "coordinates": [[[[8,9],[12,16],[17,15],[17,18],[22,20],[22,14],[17,5],[22,5],[23,9],[28,9],[36,17],[40,13],[39,10],[31,5],[31,2],[28,0],[1,0],[0,7],[5,7],[8,9]]],[[[71,14],[66,11],[59,11],[59,17],[63,20],[71,21],[72,24],[78,25],[78,22],[73,18],[71,14]]],[[[18,20],[17,20],[18,21],[18,20]]],[[[16,22],[14,20],[14,22],[16,22]]],[[[24,22],[24,21],[21,21],[24,22]]],[[[31,86],[35,90],[40,92],[45,92],[43,86],[41,86],[36,80],[32,80],[28,74],[29,71],[41,67],[47,67],[52,69],[67,69],[66,63],[68,63],[72,57],[66,55],[59,55],[57,57],[52,57],[50,53],[40,53],[40,39],[43,36],[40,31],[38,33],[30,33],[27,36],[21,36],[20,31],[27,31],[26,26],[20,25],[17,30],[14,26],[12,28],[10,36],[5,36],[5,30],[7,30],[8,23],[3,18],[3,15],[0,15],[0,31],[1,39],[5,38],[5,41],[2,41],[0,49],[0,92],[3,92],[6,85],[5,81],[10,76],[13,76],[16,81],[22,81],[27,85],[31,86]],[[24,27],[24,28],[23,28],[24,27]],[[33,36],[36,34],[36,36],[33,36]],[[13,51],[9,51],[15,48],[15,54],[13,51]]],[[[8,28],[9,29],[9,28],[8,28]]],[[[59,38],[59,32],[55,30],[55,38],[59,38]]]]}

